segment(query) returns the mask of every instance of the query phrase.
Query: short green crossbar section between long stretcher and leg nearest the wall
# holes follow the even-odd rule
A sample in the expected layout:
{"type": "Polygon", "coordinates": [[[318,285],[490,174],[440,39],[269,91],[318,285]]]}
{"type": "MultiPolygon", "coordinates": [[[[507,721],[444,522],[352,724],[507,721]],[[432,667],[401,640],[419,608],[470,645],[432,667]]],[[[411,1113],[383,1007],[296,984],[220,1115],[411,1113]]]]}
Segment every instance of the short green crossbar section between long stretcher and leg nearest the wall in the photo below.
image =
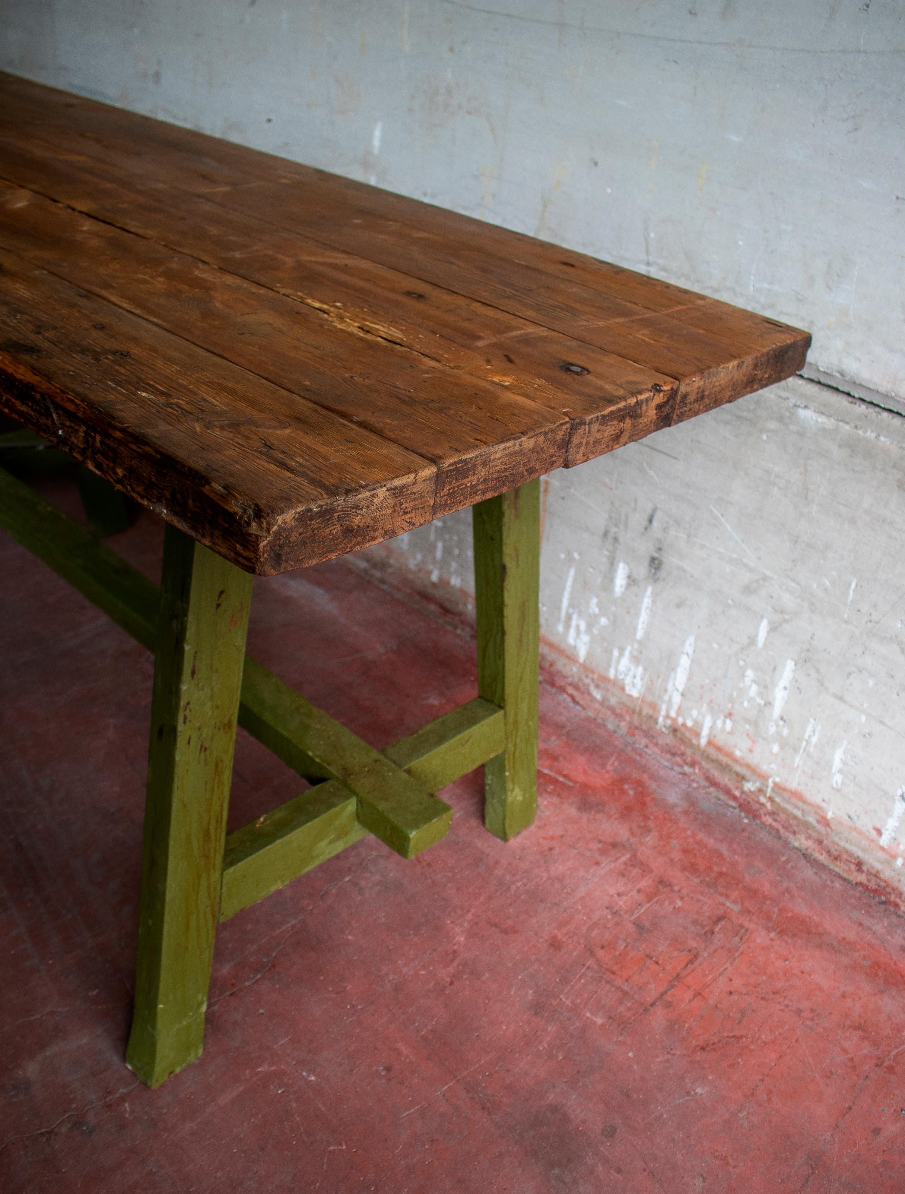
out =
{"type": "Polygon", "coordinates": [[[429,792],[438,792],[504,749],[504,725],[503,710],[476,697],[381,753],[429,792]]]}

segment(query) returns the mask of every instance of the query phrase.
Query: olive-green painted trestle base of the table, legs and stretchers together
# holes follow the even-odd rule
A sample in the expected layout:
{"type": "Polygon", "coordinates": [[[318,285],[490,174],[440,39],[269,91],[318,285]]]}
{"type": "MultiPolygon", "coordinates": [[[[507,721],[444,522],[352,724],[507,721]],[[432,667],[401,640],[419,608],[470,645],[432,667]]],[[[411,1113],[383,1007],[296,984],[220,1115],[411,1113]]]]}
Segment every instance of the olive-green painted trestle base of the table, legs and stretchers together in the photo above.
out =
{"type": "Polygon", "coordinates": [[[488,827],[509,838],[530,824],[537,484],[476,506],[474,522],[480,696],[378,752],[245,657],[250,576],[167,527],[160,590],[0,469],[0,525],[156,651],[128,1052],[149,1085],[201,1053],[218,918],[367,831],[405,857],[420,853],[445,836],[451,817],[429,793],[481,763],[488,827]],[[232,835],[224,853],[238,709],[246,728],[284,762],[326,782],[232,835]]]}

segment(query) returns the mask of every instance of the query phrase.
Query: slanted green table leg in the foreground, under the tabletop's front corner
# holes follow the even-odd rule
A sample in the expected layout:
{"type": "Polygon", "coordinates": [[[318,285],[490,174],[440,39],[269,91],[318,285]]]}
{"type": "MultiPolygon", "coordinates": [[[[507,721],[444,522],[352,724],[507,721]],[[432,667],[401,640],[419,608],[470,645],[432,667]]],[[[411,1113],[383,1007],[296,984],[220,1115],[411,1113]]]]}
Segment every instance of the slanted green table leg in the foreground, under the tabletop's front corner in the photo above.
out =
{"type": "Polygon", "coordinates": [[[127,1053],[149,1087],[202,1051],[251,591],[167,527],[127,1053]]]}

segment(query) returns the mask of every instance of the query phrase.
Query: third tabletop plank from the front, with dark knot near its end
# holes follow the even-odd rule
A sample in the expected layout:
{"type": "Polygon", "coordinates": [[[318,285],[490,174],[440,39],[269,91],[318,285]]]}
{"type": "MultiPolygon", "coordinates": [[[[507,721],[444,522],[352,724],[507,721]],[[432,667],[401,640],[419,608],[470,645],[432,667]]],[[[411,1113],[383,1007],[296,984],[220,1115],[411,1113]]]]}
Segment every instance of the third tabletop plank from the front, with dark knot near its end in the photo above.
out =
{"type": "MultiPolygon", "coordinates": [[[[70,222],[75,211],[94,215],[270,287],[316,312],[340,338],[408,349],[568,414],[568,463],[616,447],[627,420],[638,433],[639,407],[655,406],[648,418],[652,426],[663,425],[663,405],[675,395],[671,377],[431,283],[413,289],[401,271],[325,250],[253,214],[224,210],[172,186],[129,190],[112,170],[92,162],[88,171],[72,161],[70,152],[35,139],[25,150],[0,134],[0,147],[4,171],[20,184],[0,187],[7,236],[13,230],[20,236],[21,226],[33,219],[39,207],[33,191],[53,196],[73,209],[70,222]],[[570,368],[577,363],[578,369],[570,368]]],[[[44,232],[39,244],[47,250],[44,232]]]]}

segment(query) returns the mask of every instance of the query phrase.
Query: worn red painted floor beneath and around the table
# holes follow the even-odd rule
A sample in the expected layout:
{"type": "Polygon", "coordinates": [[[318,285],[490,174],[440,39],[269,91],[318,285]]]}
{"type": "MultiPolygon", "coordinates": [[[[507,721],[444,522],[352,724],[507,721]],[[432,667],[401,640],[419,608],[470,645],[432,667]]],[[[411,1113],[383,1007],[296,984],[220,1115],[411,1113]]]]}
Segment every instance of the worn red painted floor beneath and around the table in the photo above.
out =
{"type": "MultiPolygon", "coordinates": [[[[5,1194],[905,1188],[903,919],[550,690],[531,830],[487,835],[473,775],[419,858],[365,839],[240,913],[204,1057],[136,1084],[150,659],[0,570],[5,1194]]],[[[251,647],[378,746],[474,695],[472,644],[349,564],[260,581],[251,647]]],[[[242,736],[232,825],[298,783],[242,736]]]]}

